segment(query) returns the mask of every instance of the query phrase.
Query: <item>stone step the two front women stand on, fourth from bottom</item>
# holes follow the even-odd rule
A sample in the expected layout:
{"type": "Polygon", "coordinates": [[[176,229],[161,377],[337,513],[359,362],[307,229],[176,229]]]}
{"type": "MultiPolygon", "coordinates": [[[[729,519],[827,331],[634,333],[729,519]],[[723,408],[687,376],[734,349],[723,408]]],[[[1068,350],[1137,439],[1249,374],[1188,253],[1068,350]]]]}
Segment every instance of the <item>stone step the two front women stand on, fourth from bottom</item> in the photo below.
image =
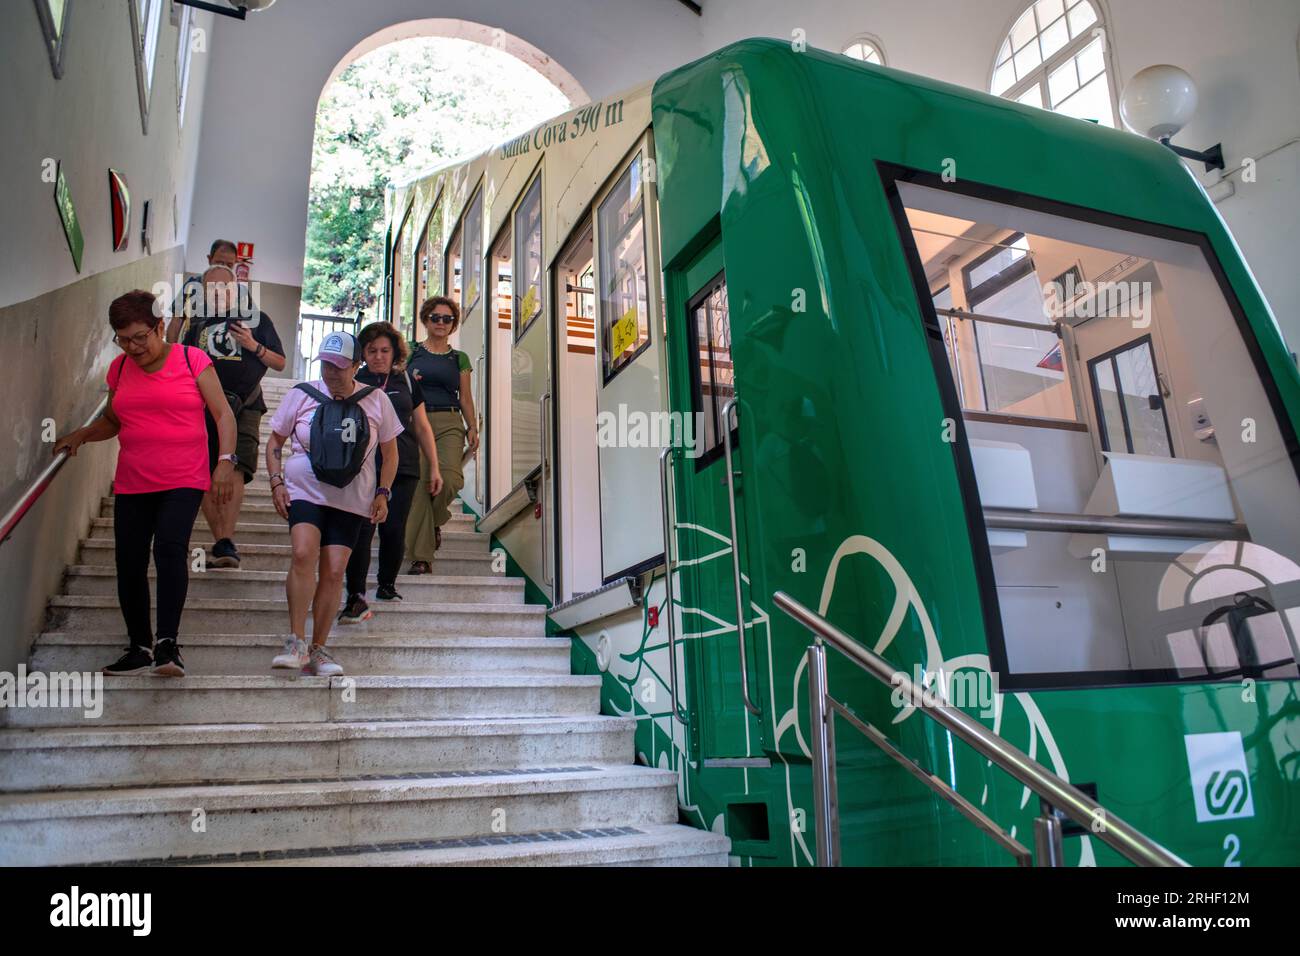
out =
{"type": "Polygon", "coordinates": [[[83,700],[75,708],[5,708],[0,726],[584,717],[599,713],[601,705],[598,675],[307,678],[273,672],[269,659],[263,676],[104,678],[103,688],[99,717],[86,713],[96,701],[83,700]]]}

